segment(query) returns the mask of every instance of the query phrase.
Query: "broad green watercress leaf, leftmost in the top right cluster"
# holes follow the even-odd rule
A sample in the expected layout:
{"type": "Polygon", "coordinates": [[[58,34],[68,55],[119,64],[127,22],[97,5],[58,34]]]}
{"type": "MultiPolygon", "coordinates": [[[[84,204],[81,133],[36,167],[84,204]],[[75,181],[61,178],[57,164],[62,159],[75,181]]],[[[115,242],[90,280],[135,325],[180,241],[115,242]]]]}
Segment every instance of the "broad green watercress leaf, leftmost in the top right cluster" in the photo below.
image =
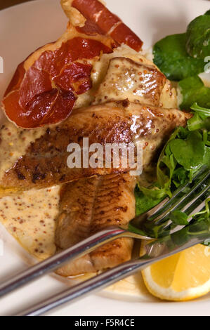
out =
{"type": "Polygon", "coordinates": [[[204,72],[204,60],[188,55],[185,41],[185,33],[173,34],[158,41],[153,48],[155,64],[170,80],[179,81],[204,72]]]}

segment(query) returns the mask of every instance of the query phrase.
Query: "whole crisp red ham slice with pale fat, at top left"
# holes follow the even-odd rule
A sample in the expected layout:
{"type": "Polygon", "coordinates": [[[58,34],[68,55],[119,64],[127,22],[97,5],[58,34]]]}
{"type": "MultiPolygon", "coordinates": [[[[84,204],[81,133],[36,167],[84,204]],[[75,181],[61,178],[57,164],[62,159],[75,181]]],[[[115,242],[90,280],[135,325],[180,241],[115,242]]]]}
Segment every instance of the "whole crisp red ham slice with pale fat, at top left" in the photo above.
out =
{"type": "Polygon", "coordinates": [[[61,2],[74,24],[69,23],[58,41],[39,48],[18,65],[2,101],[7,117],[22,128],[66,119],[78,95],[92,87],[94,60],[103,53],[112,53],[123,42],[136,50],[142,45],[99,1],[61,2]]]}

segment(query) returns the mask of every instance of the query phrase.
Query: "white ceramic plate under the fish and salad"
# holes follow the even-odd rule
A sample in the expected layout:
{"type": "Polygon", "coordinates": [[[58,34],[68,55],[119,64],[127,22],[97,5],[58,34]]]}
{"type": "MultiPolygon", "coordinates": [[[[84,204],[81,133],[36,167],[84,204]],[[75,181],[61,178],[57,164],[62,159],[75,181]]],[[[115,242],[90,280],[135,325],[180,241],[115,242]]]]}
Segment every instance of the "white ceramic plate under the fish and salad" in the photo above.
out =
{"type": "MultiPolygon", "coordinates": [[[[147,48],[168,34],[185,32],[188,22],[207,11],[210,4],[202,0],[107,0],[107,6],[143,39],[147,48]]],[[[60,37],[66,23],[59,0],[31,1],[0,11],[0,56],[4,58],[0,98],[18,63],[34,49],[60,37]]],[[[27,268],[32,259],[1,225],[0,238],[4,240],[4,253],[0,256],[0,281],[3,281],[27,268]]],[[[1,299],[0,315],[15,315],[68,285],[66,279],[46,276],[1,299]]],[[[107,298],[100,294],[49,315],[210,315],[209,298],[208,295],[188,303],[167,303],[147,294],[122,296],[118,300],[116,296],[107,298]]]]}

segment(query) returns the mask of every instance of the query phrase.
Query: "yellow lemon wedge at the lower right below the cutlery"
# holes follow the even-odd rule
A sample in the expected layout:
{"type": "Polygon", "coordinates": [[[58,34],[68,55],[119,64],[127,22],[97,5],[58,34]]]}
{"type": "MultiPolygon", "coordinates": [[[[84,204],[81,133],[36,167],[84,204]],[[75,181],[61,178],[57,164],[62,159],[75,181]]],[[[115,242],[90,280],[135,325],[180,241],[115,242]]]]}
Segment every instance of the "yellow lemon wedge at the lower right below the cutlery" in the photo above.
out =
{"type": "MultiPolygon", "coordinates": [[[[141,253],[144,253],[145,244],[141,253]]],[[[210,248],[201,244],[143,270],[145,286],[167,301],[190,301],[210,292],[210,248]]]]}

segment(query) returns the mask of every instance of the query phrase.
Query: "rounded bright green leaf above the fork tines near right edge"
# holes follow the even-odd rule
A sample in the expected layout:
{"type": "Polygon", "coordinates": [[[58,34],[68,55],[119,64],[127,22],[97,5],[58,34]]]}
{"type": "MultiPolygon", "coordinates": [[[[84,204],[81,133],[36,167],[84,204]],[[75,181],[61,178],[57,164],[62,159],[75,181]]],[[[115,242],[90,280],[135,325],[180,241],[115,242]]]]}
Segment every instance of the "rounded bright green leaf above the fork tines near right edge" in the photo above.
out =
{"type": "Polygon", "coordinates": [[[190,132],[185,140],[180,138],[171,140],[169,145],[176,161],[185,169],[195,169],[204,161],[205,144],[198,131],[190,132]]]}

